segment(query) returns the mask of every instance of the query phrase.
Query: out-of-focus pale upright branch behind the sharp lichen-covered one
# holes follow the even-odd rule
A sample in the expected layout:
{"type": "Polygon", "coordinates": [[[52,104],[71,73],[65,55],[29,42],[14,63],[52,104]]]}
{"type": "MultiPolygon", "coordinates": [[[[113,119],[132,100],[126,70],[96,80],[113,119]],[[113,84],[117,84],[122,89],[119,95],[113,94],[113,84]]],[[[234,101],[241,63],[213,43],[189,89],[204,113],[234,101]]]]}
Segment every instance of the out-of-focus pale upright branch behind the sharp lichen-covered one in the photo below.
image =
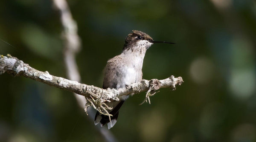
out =
{"type": "MultiPolygon", "coordinates": [[[[63,58],[64,63],[67,69],[67,77],[70,80],[81,82],[80,73],[76,64],[76,53],[80,51],[81,48],[81,40],[79,35],[77,34],[77,24],[76,21],[73,20],[72,14],[68,7],[66,0],[53,0],[54,5],[60,11],[61,15],[61,23],[64,28],[63,38],[64,38],[64,52],[63,58]]],[[[85,63],[84,63],[85,64],[85,63]]],[[[78,95],[74,93],[76,100],[79,106],[84,110],[86,99],[84,96],[78,95]]],[[[88,108],[91,109],[91,108],[88,108]]],[[[87,110],[91,112],[90,110],[87,110]]],[[[93,114],[90,114],[91,122],[94,121],[93,114]]],[[[104,137],[107,142],[117,142],[116,138],[113,136],[110,130],[107,128],[99,128],[95,127],[99,130],[99,133],[104,137]]]]}

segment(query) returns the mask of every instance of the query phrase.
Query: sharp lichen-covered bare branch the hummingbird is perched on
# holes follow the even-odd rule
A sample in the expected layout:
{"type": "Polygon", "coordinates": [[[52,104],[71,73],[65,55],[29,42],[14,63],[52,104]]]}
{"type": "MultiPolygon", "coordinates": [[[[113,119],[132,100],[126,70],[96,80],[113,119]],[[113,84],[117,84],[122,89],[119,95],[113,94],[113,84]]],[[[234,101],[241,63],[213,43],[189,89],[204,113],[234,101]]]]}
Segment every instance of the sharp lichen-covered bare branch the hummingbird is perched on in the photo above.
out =
{"type": "MultiPolygon", "coordinates": [[[[70,81],[65,78],[53,76],[47,71],[41,72],[30,67],[28,64],[23,63],[23,61],[12,57],[11,55],[1,55],[0,57],[0,74],[4,72],[7,72],[13,76],[21,75],[35,81],[43,82],[50,86],[77,93],[85,96],[86,99],[99,99],[99,103],[94,104],[96,106],[99,104],[102,105],[102,103],[106,101],[119,101],[118,96],[128,95],[131,93],[137,94],[148,91],[149,89],[151,89],[151,93],[154,93],[160,88],[167,87],[175,90],[176,85],[181,85],[183,83],[183,79],[181,77],[175,78],[174,76],[171,76],[163,80],[143,79],[141,82],[130,84],[126,88],[120,88],[118,90],[110,88],[102,89],[93,85],[81,84],[77,81],[70,81]]],[[[108,109],[107,107],[105,108],[108,109]]]]}

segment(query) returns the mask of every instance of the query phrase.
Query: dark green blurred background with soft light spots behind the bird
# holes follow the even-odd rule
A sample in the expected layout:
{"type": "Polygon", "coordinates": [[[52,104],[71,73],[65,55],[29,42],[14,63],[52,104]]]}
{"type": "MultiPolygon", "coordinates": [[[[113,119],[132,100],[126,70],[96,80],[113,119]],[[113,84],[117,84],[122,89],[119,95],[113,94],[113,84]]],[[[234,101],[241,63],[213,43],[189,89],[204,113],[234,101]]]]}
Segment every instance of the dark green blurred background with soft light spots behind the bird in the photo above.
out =
{"type": "MultiPolygon", "coordinates": [[[[256,141],[256,2],[251,0],[68,0],[82,41],[82,83],[102,70],[133,29],[154,40],[143,78],[182,76],[143,104],[129,98],[111,132],[120,142],[256,141]]],[[[0,1],[0,54],[66,78],[59,12],[50,0],[0,1]]],[[[0,141],[97,142],[103,138],[73,94],[0,75],[0,141]]]]}

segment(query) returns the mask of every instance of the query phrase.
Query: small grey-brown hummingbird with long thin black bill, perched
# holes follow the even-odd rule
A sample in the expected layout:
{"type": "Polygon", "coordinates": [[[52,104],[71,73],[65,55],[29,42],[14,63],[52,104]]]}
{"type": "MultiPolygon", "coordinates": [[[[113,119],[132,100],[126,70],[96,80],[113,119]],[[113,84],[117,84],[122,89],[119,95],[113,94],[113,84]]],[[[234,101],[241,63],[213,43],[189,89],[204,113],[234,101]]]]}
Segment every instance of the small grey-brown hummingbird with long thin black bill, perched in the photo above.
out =
{"type": "MultiPolygon", "coordinates": [[[[129,84],[142,81],[142,66],[143,59],[147,49],[153,43],[170,43],[166,41],[153,41],[153,39],[144,32],[132,30],[125,38],[125,44],[120,55],[117,55],[107,61],[103,79],[103,89],[107,88],[124,88],[129,84]]],[[[131,96],[133,94],[130,94],[131,96]]],[[[94,124],[100,123],[101,127],[108,124],[108,129],[116,124],[119,109],[129,96],[119,96],[119,101],[111,101],[106,103],[108,107],[113,107],[108,110],[111,114],[111,121],[108,116],[100,114],[97,111],[94,119],[94,124]]]]}

